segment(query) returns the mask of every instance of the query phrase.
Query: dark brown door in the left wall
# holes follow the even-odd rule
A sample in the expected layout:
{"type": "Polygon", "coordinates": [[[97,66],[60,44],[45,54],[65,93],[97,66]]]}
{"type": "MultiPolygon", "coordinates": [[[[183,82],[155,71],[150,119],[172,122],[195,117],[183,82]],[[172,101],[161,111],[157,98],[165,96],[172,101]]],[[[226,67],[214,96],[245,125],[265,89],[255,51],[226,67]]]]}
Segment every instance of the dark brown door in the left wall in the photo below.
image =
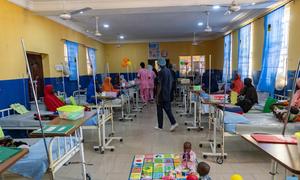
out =
{"type": "MultiPolygon", "coordinates": [[[[32,75],[34,88],[37,92],[38,99],[44,96],[44,72],[43,72],[43,61],[40,54],[27,53],[29,67],[32,75]]],[[[29,99],[34,100],[32,87],[29,81],[29,99]]]]}

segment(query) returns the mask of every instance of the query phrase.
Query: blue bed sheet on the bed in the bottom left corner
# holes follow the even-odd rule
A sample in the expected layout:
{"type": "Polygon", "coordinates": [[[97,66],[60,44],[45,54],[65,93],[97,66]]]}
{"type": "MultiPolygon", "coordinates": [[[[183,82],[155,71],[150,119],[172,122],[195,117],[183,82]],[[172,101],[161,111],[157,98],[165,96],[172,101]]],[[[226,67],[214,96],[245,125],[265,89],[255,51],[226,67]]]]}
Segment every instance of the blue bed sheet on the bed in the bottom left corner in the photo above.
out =
{"type": "MultiPolygon", "coordinates": [[[[60,151],[61,153],[64,152],[64,139],[58,138],[58,141],[60,141],[60,151]]],[[[75,142],[75,139],[73,138],[73,141],[75,142]]],[[[46,139],[46,142],[49,146],[50,138],[46,139]]],[[[67,141],[67,149],[69,150],[70,147],[70,141],[67,141]]],[[[58,147],[53,145],[53,159],[56,160],[58,158],[58,147]]],[[[24,177],[32,178],[34,180],[40,180],[43,178],[44,174],[46,173],[47,169],[49,167],[48,159],[46,150],[44,147],[43,140],[39,140],[34,145],[30,146],[29,153],[24,156],[22,159],[17,161],[10,169],[9,171],[15,174],[19,174],[24,177]]]]}

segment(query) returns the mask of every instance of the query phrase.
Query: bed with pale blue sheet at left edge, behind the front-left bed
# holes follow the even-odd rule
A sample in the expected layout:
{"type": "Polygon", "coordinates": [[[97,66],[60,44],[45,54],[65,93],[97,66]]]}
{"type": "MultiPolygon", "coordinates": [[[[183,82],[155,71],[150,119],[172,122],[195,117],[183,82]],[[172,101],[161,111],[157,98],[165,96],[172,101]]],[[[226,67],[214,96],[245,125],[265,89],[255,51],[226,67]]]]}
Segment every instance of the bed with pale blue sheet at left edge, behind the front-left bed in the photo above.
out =
{"type": "MultiPolygon", "coordinates": [[[[34,119],[36,111],[25,114],[17,114],[12,108],[0,110],[0,126],[8,130],[35,130],[39,128],[39,121],[34,119]]],[[[53,114],[53,112],[41,110],[41,114],[53,114]]],[[[47,121],[45,121],[47,122],[47,121]]]]}

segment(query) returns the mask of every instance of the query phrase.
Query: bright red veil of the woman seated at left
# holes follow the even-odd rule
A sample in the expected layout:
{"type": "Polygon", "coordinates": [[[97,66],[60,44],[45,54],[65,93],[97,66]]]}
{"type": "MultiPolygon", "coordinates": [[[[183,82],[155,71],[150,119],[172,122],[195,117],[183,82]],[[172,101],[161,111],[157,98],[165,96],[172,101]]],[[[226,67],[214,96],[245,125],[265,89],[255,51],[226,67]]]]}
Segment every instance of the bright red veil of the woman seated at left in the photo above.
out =
{"type": "Polygon", "coordinates": [[[44,103],[48,111],[55,112],[57,108],[65,105],[64,102],[55,96],[52,85],[45,86],[44,96],[44,103]]]}

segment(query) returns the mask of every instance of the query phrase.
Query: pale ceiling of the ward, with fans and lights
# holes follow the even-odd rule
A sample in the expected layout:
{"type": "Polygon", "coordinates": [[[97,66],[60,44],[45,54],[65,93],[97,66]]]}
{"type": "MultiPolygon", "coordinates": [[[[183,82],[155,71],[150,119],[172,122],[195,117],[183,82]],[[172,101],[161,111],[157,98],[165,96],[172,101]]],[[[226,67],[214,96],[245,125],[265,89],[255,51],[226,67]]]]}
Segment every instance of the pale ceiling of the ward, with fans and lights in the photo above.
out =
{"type": "Polygon", "coordinates": [[[236,0],[242,8],[224,15],[232,0],[10,0],[37,14],[46,16],[76,31],[105,43],[187,41],[214,39],[237,28],[242,22],[264,13],[268,8],[283,1],[236,0]],[[256,2],[256,5],[251,3],[256,2]],[[221,5],[213,9],[210,5],[221,5]],[[92,10],[72,16],[65,21],[59,18],[62,12],[91,7],[92,10]],[[204,32],[206,11],[210,12],[212,32],[204,32]],[[95,16],[99,17],[101,37],[94,36],[95,16]],[[198,26],[203,22],[203,26],[198,26]],[[105,29],[103,24],[109,24],[105,29]],[[124,35],[120,40],[119,35],[124,35]]]}

